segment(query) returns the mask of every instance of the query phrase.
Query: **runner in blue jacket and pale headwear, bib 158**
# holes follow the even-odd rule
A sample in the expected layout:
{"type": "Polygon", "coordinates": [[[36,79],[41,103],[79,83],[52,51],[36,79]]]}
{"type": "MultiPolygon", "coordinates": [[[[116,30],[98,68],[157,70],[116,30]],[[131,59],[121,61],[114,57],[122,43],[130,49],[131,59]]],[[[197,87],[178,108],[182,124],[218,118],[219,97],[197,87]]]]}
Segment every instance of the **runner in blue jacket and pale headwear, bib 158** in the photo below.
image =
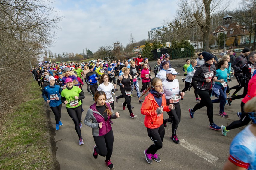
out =
{"type": "Polygon", "coordinates": [[[59,126],[62,126],[62,122],[60,121],[61,117],[61,96],[60,93],[62,91],[62,88],[59,85],[55,84],[55,78],[49,77],[49,85],[47,85],[44,88],[44,91],[42,93],[42,96],[44,98],[44,101],[49,103],[50,108],[52,109],[54,113],[54,118],[56,121],[56,130],[59,130],[59,126]]]}

